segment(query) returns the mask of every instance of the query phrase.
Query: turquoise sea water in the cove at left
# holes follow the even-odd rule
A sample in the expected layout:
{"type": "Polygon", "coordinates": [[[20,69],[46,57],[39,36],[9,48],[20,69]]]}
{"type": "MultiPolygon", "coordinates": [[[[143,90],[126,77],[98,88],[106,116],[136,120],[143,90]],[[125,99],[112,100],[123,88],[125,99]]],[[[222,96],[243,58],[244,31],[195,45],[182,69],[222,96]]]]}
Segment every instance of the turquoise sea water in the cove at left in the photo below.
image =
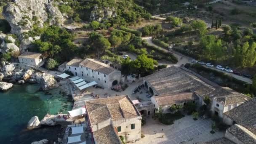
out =
{"type": "Polygon", "coordinates": [[[14,85],[9,91],[0,92],[0,143],[31,144],[41,139],[57,139],[60,126],[27,130],[27,123],[33,116],[41,120],[48,113],[67,113],[72,109],[72,98],[61,94],[61,89],[47,93],[37,91],[39,85],[14,85]]]}

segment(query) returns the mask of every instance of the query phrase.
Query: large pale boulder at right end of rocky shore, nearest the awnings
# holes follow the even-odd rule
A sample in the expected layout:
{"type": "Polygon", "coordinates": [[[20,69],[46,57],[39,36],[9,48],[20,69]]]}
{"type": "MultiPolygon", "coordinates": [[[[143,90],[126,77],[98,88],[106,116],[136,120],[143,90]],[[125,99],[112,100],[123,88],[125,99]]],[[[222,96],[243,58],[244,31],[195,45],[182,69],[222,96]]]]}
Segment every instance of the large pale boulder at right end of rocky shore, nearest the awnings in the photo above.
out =
{"type": "Polygon", "coordinates": [[[37,80],[37,83],[41,84],[41,88],[44,91],[59,87],[53,75],[46,74],[46,73],[42,74],[40,72],[37,72],[33,75],[33,78],[37,80]]]}

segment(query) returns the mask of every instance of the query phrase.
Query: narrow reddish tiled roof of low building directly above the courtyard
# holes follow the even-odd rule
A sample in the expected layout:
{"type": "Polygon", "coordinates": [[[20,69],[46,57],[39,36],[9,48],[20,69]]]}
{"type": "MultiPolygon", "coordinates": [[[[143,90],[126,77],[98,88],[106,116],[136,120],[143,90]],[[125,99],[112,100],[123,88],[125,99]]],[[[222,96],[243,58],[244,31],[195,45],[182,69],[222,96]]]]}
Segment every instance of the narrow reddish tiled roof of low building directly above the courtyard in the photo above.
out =
{"type": "Polygon", "coordinates": [[[192,101],[199,99],[194,93],[183,93],[178,95],[166,94],[160,96],[154,96],[157,104],[160,106],[170,105],[170,104],[179,104],[186,101],[192,101]]]}

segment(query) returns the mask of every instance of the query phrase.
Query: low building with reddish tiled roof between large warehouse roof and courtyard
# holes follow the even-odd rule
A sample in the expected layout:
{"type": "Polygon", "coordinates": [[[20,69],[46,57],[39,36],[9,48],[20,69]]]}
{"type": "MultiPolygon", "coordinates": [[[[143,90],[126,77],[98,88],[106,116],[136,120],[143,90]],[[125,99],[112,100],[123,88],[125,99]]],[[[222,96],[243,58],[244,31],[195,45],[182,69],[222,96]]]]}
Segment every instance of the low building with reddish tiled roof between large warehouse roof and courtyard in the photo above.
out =
{"type": "Polygon", "coordinates": [[[160,96],[153,96],[151,98],[152,103],[155,106],[155,109],[162,109],[163,113],[169,113],[169,108],[173,105],[186,105],[187,102],[197,103],[199,98],[195,93],[181,93],[177,95],[166,94],[160,96]]]}

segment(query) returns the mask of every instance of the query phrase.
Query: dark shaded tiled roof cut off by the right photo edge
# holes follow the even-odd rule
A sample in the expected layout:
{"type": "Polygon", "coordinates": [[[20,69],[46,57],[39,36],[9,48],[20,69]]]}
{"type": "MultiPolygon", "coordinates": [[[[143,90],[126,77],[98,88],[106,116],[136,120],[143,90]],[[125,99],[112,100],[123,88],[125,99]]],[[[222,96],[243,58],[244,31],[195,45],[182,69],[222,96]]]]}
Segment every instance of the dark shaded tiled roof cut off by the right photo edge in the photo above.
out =
{"type": "Polygon", "coordinates": [[[256,134],[256,98],[245,101],[238,107],[224,112],[224,115],[256,134]]]}

